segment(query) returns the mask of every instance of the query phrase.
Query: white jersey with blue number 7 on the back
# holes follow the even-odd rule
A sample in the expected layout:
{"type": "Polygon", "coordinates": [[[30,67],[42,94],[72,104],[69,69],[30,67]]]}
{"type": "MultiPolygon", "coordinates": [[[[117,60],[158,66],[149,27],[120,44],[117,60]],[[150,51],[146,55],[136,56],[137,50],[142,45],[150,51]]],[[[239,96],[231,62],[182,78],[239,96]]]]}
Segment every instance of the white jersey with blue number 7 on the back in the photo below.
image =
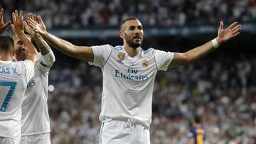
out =
{"type": "Polygon", "coordinates": [[[31,60],[0,60],[0,137],[21,139],[21,104],[33,74],[31,60]]]}

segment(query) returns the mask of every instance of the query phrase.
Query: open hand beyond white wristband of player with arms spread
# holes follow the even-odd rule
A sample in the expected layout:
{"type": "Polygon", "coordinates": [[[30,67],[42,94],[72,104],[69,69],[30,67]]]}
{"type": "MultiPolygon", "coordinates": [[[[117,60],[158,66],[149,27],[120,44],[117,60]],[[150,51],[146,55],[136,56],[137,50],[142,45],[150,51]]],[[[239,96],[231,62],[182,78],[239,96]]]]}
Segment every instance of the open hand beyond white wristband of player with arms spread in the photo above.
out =
{"type": "Polygon", "coordinates": [[[218,29],[218,36],[216,40],[219,44],[225,43],[226,41],[239,35],[242,26],[238,22],[232,23],[228,28],[223,29],[223,22],[220,21],[220,27],[218,29]]]}

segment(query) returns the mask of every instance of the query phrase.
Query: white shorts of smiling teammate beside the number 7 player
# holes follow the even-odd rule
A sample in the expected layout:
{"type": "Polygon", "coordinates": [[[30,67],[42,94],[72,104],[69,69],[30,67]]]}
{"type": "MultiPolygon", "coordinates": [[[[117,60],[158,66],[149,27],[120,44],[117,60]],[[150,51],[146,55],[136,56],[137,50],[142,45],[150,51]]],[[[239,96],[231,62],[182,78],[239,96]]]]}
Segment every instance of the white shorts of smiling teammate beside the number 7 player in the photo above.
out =
{"type": "Polygon", "coordinates": [[[21,136],[21,144],[50,144],[50,133],[21,136]]]}

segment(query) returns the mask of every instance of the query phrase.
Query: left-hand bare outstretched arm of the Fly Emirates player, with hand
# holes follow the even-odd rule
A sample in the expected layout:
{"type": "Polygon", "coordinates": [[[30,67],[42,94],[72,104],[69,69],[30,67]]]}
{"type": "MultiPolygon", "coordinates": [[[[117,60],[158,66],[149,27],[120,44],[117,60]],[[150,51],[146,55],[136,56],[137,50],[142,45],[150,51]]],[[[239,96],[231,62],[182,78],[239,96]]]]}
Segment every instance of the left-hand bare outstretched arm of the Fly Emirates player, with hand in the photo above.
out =
{"type": "Polygon", "coordinates": [[[92,48],[86,46],[77,46],[69,43],[66,40],[56,37],[46,31],[46,26],[44,25],[41,16],[38,16],[38,23],[33,21],[33,18],[28,18],[28,25],[31,26],[34,31],[39,33],[44,40],[46,40],[54,48],[60,50],[61,52],[69,55],[70,57],[75,57],[79,60],[85,60],[87,62],[93,62],[93,51],[92,48]]]}

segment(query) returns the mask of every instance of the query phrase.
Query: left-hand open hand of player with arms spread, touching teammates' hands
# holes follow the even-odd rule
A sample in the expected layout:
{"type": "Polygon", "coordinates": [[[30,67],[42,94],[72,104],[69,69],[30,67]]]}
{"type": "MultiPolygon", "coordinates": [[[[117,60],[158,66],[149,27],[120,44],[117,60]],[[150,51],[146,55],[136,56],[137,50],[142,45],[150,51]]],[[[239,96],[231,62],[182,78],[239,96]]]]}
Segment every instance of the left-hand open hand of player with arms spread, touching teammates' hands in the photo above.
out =
{"type": "Polygon", "coordinates": [[[38,23],[33,18],[28,18],[28,26],[31,26],[36,33],[46,35],[46,26],[42,21],[41,16],[37,16],[38,23]]]}

